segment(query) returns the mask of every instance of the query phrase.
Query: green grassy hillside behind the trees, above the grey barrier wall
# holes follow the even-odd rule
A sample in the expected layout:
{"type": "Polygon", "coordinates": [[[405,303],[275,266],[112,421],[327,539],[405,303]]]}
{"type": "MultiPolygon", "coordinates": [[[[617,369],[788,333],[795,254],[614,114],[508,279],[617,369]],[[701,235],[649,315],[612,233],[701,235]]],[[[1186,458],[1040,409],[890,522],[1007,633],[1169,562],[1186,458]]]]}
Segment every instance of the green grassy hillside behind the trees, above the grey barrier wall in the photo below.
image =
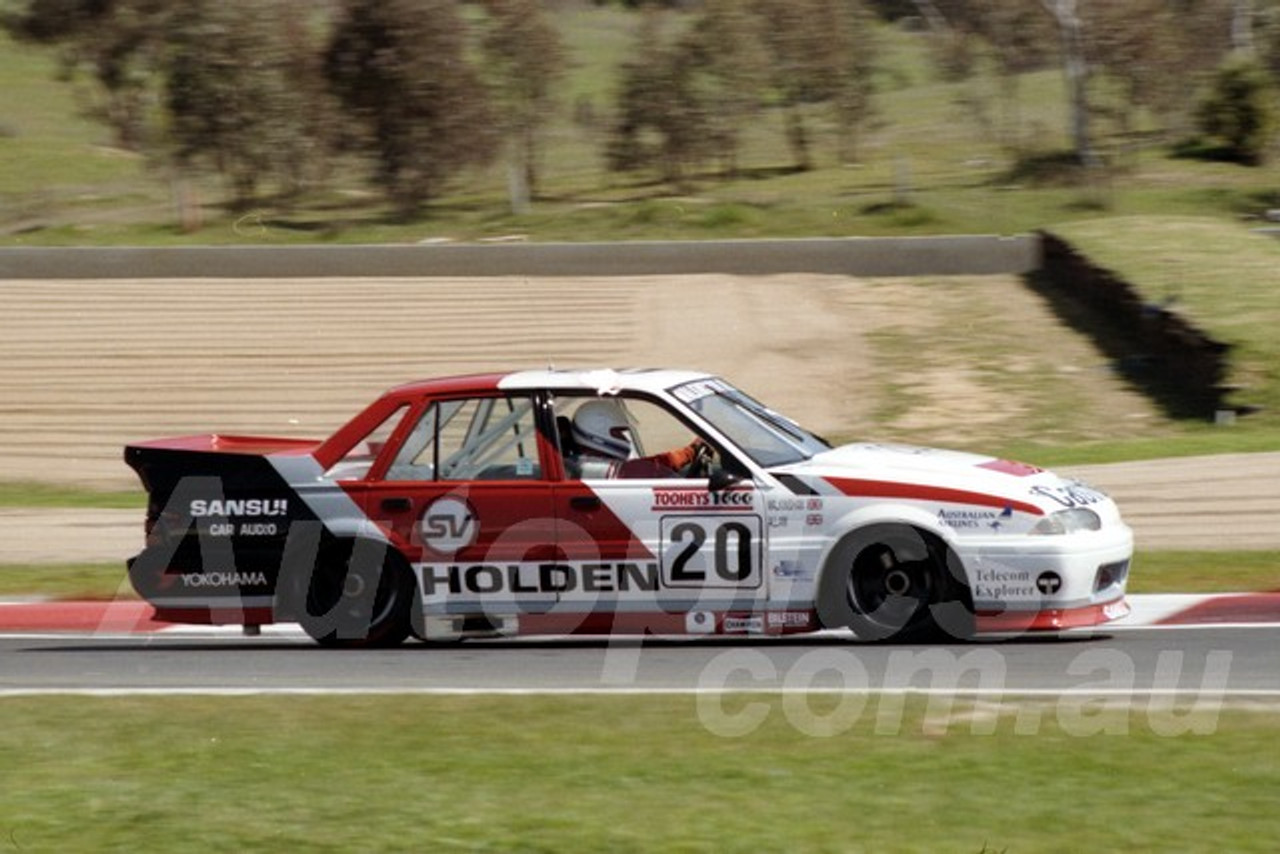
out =
{"type": "Polygon", "coordinates": [[[814,113],[815,168],[791,170],[783,117],[767,109],[744,137],[736,178],[694,175],[676,191],[604,169],[617,68],[636,15],[567,3],[556,20],[568,76],[547,133],[544,196],[530,213],[509,213],[506,168],[495,164],[458,175],[422,216],[397,222],[365,170],[342,161],[310,193],[264,197],[234,214],[209,178],[196,187],[204,228],[189,234],[175,228],[165,169],[113,149],[108,131],[84,118],[84,85],[56,81],[47,50],[0,36],[0,245],[1015,233],[1082,215],[1231,219],[1280,205],[1275,163],[1179,159],[1142,133],[1108,137],[1105,123],[1112,166],[1083,177],[1064,169],[1056,70],[1023,74],[1016,101],[1004,101],[989,76],[940,81],[925,36],[887,24],[876,37],[876,115],[852,161],[840,161],[833,128],[814,113]],[[1002,143],[1006,113],[1019,117],[1018,156],[1002,143]]]}

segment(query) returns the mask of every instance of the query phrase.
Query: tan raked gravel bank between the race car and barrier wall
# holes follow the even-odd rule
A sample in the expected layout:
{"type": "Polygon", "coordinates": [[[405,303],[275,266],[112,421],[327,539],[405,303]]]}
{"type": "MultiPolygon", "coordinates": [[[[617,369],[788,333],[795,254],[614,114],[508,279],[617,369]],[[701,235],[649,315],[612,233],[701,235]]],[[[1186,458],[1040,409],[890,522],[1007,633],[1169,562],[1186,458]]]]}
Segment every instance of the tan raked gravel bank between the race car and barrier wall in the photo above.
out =
{"type": "Polygon", "coordinates": [[[1020,367],[963,351],[979,325],[1102,361],[1015,277],[5,282],[0,479],[128,488],[129,440],[323,437],[393,384],[545,365],[699,367],[842,438],[996,442],[1024,407],[984,362],[1020,367]]]}

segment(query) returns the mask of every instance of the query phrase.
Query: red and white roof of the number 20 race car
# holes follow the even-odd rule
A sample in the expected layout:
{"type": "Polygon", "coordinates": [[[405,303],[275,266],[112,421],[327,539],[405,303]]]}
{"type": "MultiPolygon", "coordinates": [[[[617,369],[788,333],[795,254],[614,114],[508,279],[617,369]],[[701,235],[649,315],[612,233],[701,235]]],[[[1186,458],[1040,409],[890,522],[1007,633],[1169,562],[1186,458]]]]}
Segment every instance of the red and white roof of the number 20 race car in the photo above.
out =
{"type": "Polygon", "coordinates": [[[712,375],[703,371],[672,370],[667,367],[627,367],[627,369],[579,369],[561,370],[547,367],[522,370],[508,374],[467,374],[462,376],[442,376],[416,383],[398,385],[388,391],[388,396],[413,397],[424,394],[456,394],[475,391],[594,391],[599,393],[650,392],[660,393],[675,385],[712,375]]]}

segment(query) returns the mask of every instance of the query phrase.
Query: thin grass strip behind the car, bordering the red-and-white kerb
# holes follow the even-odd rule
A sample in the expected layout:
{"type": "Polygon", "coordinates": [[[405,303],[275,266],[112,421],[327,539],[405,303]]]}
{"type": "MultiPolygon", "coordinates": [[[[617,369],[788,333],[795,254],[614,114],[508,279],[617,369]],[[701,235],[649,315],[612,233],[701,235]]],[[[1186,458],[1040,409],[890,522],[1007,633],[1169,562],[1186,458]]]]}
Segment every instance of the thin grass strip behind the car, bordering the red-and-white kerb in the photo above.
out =
{"type": "MultiPolygon", "coordinates": [[[[1134,558],[1130,593],[1280,592],[1280,552],[1143,551],[1134,558]]],[[[123,561],[0,565],[0,598],[111,599],[133,597],[123,561]]]]}

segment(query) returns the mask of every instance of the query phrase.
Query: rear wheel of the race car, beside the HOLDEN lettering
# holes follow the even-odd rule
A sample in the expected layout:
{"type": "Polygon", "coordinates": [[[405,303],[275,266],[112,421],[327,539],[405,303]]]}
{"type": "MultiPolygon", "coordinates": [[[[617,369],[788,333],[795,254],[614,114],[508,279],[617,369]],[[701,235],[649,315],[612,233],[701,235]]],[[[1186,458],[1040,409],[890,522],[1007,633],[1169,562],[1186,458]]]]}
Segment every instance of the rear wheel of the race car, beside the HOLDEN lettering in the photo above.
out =
{"type": "Polygon", "coordinates": [[[324,647],[396,647],[410,635],[413,576],[385,543],[351,540],[320,554],[294,616],[324,647]]]}

